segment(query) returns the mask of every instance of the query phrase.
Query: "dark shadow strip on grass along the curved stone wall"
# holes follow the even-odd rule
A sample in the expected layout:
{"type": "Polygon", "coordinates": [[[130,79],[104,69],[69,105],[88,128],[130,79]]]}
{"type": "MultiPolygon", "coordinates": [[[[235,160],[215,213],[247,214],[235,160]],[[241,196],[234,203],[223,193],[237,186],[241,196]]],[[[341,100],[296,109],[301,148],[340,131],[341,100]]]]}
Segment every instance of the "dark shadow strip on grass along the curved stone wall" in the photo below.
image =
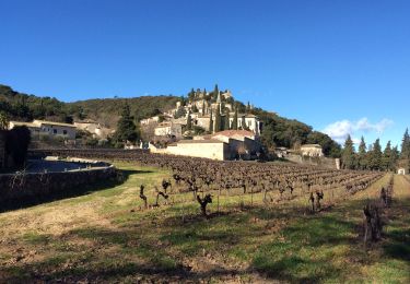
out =
{"type": "Polygon", "coordinates": [[[128,180],[128,178],[131,175],[137,174],[147,174],[151,173],[148,170],[121,170],[117,169],[119,177],[117,179],[107,179],[94,182],[92,185],[86,185],[82,187],[74,187],[70,191],[56,191],[50,192],[47,196],[37,196],[37,197],[25,197],[17,200],[9,200],[0,202],[0,213],[7,212],[7,211],[13,211],[17,209],[25,209],[38,204],[49,203],[57,200],[62,200],[67,198],[75,198],[81,196],[86,196],[95,191],[101,191],[109,188],[114,188],[116,186],[119,186],[128,180]]]}

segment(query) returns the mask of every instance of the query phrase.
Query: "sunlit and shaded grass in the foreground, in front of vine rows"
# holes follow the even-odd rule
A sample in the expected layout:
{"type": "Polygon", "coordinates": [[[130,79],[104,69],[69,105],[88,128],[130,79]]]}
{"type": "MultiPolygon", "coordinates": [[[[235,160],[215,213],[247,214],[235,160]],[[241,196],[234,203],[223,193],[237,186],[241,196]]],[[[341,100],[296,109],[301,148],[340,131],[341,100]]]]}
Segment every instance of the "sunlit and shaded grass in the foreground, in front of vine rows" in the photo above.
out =
{"type": "Polygon", "coordinates": [[[395,176],[383,240],[363,245],[362,208],[386,175],[349,199],[325,191],[325,210],[305,197],[263,204],[261,194],[223,193],[210,217],[191,193],[154,203],[168,173],[117,164],[128,179],[80,197],[0,213],[0,282],[410,283],[410,184],[395,176]],[[335,197],[336,196],[336,197],[335,197]],[[250,200],[251,199],[251,200],[250,200]]]}

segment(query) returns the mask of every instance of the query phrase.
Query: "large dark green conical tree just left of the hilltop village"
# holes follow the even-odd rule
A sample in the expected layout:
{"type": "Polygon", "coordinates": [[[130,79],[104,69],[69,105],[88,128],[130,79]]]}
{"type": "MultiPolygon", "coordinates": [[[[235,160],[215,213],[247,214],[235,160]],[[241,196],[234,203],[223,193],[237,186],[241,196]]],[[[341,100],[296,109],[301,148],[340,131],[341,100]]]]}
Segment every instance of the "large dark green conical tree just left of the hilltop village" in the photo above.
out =
{"type": "Polygon", "coordinates": [[[140,132],[137,129],[133,118],[130,115],[130,107],[126,104],[122,108],[121,118],[117,123],[117,131],[115,133],[115,141],[118,142],[136,142],[140,139],[140,132]]]}

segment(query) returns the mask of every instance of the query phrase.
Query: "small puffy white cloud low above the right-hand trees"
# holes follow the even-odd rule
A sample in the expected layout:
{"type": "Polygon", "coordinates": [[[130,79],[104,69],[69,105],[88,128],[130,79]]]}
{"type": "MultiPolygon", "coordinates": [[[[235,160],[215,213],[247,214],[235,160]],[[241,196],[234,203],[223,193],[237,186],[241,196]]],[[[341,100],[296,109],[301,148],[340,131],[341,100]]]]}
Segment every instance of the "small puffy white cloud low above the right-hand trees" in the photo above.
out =
{"type": "Polygon", "coordinates": [[[372,123],[367,118],[362,118],[358,121],[350,121],[348,119],[336,121],[327,126],[323,132],[331,137],[339,143],[343,143],[350,134],[354,143],[359,143],[360,140],[354,135],[358,133],[376,132],[382,134],[388,127],[394,123],[390,119],[382,119],[377,123],[372,123]]]}

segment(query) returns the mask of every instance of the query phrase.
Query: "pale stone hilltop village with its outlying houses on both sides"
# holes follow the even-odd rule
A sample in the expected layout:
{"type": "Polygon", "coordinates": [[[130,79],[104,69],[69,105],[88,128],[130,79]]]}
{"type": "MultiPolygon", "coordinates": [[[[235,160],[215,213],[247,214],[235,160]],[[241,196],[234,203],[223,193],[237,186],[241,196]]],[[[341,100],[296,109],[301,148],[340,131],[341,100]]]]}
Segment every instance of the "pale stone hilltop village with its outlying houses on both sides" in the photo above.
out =
{"type": "MultiPolygon", "coordinates": [[[[144,149],[152,153],[219,161],[259,159],[266,155],[261,143],[263,123],[254,110],[251,104],[235,100],[231,91],[219,91],[215,85],[212,92],[192,88],[186,97],[177,99],[174,107],[156,109],[155,115],[137,121],[134,129],[136,121],[127,103],[117,129],[91,118],[80,119],[81,116],[70,122],[11,120],[8,129],[27,127],[34,147],[55,143],[66,147],[104,147],[116,138],[124,141],[118,145],[128,150],[144,149]],[[119,137],[127,131],[139,133],[119,137]]],[[[277,147],[274,155],[298,162],[301,156],[323,157],[324,152],[319,144],[301,144],[296,151],[277,147]]]]}

